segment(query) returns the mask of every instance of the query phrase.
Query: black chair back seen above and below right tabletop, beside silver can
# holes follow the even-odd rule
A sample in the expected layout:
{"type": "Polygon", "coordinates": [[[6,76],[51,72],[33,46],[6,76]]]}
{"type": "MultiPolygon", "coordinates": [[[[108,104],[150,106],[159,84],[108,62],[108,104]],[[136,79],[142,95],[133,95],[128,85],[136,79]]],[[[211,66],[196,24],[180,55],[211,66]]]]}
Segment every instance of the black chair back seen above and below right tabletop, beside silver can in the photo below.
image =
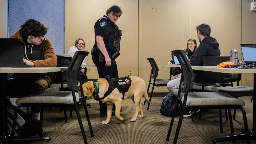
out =
{"type": "MultiPolygon", "coordinates": [[[[203,66],[217,66],[222,62],[229,61],[229,56],[203,56],[203,66]]],[[[204,82],[231,83],[241,80],[241,74],[226,74],[218,72],[203,72],[204,82]]]]}

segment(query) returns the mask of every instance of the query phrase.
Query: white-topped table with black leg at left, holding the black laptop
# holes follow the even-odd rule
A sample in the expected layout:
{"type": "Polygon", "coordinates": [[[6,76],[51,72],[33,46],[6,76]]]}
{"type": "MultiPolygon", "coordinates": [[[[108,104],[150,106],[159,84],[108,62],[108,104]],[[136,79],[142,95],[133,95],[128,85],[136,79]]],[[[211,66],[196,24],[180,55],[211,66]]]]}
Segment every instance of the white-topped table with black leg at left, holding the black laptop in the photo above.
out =
{"type": "Polygon", "coordinates": [[[8,73],[48,73],[66,71],[66,67],[32,67],[32,68],[0,68],[0,141],[7,143],[7,95],[6,83],[8,73]]]}

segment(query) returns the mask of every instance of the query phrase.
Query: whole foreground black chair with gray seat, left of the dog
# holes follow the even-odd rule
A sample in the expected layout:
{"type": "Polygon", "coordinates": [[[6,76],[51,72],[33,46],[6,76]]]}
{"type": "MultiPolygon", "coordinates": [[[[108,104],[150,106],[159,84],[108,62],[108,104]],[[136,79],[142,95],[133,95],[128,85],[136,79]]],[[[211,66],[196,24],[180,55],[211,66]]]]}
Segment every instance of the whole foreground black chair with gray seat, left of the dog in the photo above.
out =
{"type": "MultiPolygon", "coordinates": [[[[18,105],[14,112],[14,120],[12,124],[12,134],[11,134],[11,142],[13,143],[14,140],[14,130],[16,126],[16,119],[17,119],[17,111],[20,107],[41,107],[41,120],[40,120],[40,130],[42,131],[42,124],[43,124],[43,110],[45,106],[60,106],[65,107],[69,105],[74,105],[76,110],[76,116],[80,125],[80,129],[82,132],[82,136],[84,139],[84,143],[87,144],[87,139],[84,132],[84,126],[81,120],[81,116],[79,110],[77,108],[77,102],[79,101],[79,95],[76,91],[81,90],[81,94],[83,95],[83,87],[81,85],[81,77],[79,75],[80,66],[82,61],[84,60],[85,56],[88,55],[89,52],[84,51],[77,51],[71,60],[67,72],[67,84],[68,88],[71,91],[52,91],[52,92],[38,92],[36,94],[32,94],[27,97],[22,97],[16,100],[16,104],[18,105]]],[[[90,122],[89,114],[85,105],[85,98],[83,97],[83,104],[84,110],[86,114],[86,118],[89,124],[89,129],[91,132],[91,136],[93,137],[92,125],[90,122]]]]}

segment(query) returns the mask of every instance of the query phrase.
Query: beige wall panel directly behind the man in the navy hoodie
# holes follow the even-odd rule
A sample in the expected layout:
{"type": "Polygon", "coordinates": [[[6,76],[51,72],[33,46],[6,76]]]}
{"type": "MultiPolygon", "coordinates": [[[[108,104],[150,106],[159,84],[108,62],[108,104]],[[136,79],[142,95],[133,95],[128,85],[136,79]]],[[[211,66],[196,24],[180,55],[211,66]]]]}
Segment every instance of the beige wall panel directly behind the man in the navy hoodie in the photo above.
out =
{"type": "Polygon", "coordinates": [[[196,40],[196,26],[207,23],[211,36],[220,44],[222,56],[237,49],[241,60],[241,0],[191,0],[191,33],[196,40]]]}

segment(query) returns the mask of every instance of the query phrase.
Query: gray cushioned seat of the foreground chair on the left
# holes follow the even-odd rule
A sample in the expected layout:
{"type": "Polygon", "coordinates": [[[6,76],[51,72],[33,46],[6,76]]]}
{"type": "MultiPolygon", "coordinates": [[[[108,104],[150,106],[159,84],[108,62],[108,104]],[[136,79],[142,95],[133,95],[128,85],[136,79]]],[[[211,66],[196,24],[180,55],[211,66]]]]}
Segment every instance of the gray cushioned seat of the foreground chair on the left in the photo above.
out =
{"type": "MultiPolygon", "coordinates": [[[[76,93],[76,92],[75,92],[76,93]]],[[[76,93],[76,102],[79,101],[79,95],[76,93]]],[[[67,91],[50,91],[38,92],[27,97],[22,97],[16,100],[16,104],[23,103],[53,103],[53,104],[74,104],[72,92],[67,91]]]]}

